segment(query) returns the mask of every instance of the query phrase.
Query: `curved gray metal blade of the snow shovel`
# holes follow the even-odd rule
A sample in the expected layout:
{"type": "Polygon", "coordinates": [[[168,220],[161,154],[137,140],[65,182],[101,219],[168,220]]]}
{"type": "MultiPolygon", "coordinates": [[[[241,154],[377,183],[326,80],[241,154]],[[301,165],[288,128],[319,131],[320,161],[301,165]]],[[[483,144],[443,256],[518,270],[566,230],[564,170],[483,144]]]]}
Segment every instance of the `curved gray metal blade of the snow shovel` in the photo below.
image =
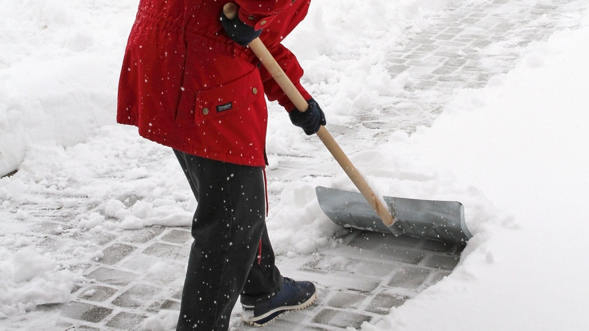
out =
{"type": "MultiPolygon", "coordinates": [[[[332,221],[343,227],[392,233],[360,193],[317,186],[319,206],[332,221]]],[[[403,236],[466,244],[472,234],[458,201],[418,200],[383,197],[403,236]]]]}

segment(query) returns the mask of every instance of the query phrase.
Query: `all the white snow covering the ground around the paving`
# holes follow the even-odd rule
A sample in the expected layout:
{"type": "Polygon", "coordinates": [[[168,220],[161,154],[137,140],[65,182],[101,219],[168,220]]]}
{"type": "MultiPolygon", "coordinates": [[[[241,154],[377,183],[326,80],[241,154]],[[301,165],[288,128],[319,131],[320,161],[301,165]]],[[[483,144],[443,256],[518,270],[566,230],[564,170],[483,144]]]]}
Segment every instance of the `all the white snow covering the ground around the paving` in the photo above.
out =
{"type": "MultiPolygon", "coordinates": [[[[12,1],[0,11],[0,174],[18,167],[0,179],[0,319],[71,300],[74,286],[90,282],[84,265],[103,257],[91,242],[42,251],[29,236],[38,212],[26,206],[71,210],[75,226],[52,230],[63,236],[188,226],[196,207],[170,150],[115,124],[137,1],[66,2],[12,1]]],[[[306,69],[327,128],[350,124],[358,111],[378,114],[406,94],[411,77],[389,75],[386,52],[448,5],[313,2],[285,44],[306,69]]],[[[456,91],[431,127],[391,132],[386,143],[350,154],[381,193],[461,201],[474,234],[450,276],[363,330],[589,329],[589,16],[569,18],[547,42],[528,45],[512,71],[456,91]],[[568,29],[571,22],[580,28],[568,29]]],[[[529,27],[551,22],[544,15],[529,27]]],[[[503,54],[507,43],[518,40],[485,52],[503,54]]],[[[277,105],[270,111],[272,171],[282,166],[274,155],[305,157],[314,138],[277,105]]],[[[315,186],[353,190],[343,174],[330,180],[293,171],[299,180],[268,187],[278,198],[267,226],[276,253],[288,257],[332,244],[336,226],[322,214],[315,186]]],[[[163,310],[144,328],[168,330],[176,317],[163,310]]]]}

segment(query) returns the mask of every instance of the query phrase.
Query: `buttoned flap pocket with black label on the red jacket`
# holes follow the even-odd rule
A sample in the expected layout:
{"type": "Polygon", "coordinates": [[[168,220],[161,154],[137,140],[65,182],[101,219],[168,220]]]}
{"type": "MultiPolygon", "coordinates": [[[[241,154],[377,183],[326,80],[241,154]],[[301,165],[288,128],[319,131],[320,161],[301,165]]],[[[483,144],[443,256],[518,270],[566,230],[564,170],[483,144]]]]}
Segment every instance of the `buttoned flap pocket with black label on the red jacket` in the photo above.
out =
{"type": "Polygon", "coordinates": [[[196,93],[194,120],[196,124],[229,115],[263,98],[260,73],[253,69],[237,80],[196,93]]]}

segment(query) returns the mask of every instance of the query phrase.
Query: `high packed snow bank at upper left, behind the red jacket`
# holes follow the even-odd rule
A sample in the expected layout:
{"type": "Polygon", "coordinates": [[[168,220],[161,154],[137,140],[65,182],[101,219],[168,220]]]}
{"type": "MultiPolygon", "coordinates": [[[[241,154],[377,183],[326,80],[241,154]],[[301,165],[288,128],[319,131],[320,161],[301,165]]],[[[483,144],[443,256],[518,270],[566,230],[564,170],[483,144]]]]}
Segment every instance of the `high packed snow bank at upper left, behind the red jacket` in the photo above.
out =
{"type": "Polygon", "coordinates": [[[0,11],[0,176],[33,144],[73,145],[115,123],[137,1],[8,1],[0,11]]]}

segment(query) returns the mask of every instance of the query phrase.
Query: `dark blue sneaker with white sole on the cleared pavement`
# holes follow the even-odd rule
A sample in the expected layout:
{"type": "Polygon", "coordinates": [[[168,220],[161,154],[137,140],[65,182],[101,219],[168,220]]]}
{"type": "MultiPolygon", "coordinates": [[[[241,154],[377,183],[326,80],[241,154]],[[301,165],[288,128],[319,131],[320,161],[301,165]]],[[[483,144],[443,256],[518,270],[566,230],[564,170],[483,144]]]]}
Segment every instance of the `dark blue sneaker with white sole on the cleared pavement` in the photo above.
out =
{"type": "Polygon", "coordinates": [[[317,298],[313,283],[295,282],[287,277],[282,278],[282,289],[272,299],[256,306],[242,304],[244,322],[263,326],[283,313],[296,312],[309,307],[317,298]]]}

